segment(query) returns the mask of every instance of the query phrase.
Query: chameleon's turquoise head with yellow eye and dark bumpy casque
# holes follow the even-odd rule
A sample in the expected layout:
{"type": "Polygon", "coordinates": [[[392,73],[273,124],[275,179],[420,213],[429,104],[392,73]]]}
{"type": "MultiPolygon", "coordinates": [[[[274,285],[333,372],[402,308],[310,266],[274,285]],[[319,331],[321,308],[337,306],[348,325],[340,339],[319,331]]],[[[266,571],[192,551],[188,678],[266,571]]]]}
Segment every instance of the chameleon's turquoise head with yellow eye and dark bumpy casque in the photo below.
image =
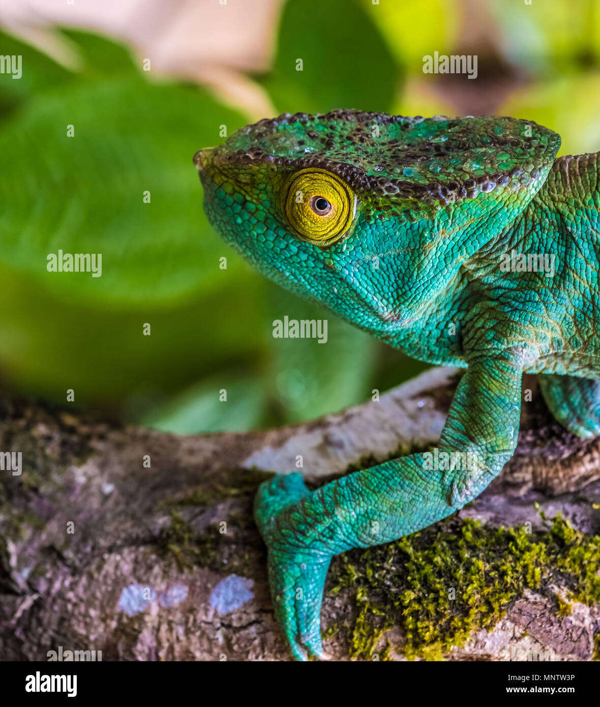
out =
{"type": "Polygon", "coordinates": [[[288,113],[194,156],[213,226],[282,286],[406,327],[516,218],[560,138],[512,118],[288,113]]]}

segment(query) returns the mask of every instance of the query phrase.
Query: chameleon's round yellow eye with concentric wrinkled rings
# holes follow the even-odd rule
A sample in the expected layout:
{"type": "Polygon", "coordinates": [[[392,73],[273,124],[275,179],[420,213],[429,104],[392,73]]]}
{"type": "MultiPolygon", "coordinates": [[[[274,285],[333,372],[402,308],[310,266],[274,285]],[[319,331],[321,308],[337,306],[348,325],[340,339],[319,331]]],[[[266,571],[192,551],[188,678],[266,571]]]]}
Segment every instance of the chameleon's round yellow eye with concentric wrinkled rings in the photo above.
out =
{"type": "Polygon", "coordinates": [[[307,168],[288,178],[283,211],[300,238],[331,245],[346,233],[356,211],[352,189],[327,170],[307,168]]]}

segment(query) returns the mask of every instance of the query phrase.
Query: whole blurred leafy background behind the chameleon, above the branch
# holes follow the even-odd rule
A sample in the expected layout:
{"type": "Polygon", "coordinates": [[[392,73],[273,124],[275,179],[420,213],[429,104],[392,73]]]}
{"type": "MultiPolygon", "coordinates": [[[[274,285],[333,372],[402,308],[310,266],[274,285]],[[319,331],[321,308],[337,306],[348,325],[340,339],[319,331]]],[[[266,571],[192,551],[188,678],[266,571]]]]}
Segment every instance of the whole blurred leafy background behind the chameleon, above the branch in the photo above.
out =
{"type": "Polygon", "coordinates": [[[560,154],[600,150],[596,0],[0,0],[0,25],[0,54],[23,57],[20,79],[0,74],[2,388],[73,389],[163,430],[312,419],[426,367],[220,242],[192,156],[221,126],[340,107],[512,115],[559,132],[560,154]],[[476,54],[477,78],[424,74],[434,52],[476,54]],[[102,253],[102,276],[49,273],[59,249],[102,253]],[[285,315],[326,316],[327,344],[273,339],[285,315]]]}

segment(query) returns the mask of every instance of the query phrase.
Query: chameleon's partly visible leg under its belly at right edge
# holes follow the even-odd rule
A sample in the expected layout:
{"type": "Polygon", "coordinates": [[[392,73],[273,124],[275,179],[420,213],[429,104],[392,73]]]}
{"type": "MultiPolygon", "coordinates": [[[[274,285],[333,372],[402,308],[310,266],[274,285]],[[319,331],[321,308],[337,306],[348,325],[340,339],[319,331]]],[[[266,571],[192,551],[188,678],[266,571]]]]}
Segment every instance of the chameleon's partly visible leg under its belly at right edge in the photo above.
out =
{"type": "Polygon", "coordinates": [[[578,437],[600,435],[600,380],[541,373],[543,399],[551,413],[578,437]]]}

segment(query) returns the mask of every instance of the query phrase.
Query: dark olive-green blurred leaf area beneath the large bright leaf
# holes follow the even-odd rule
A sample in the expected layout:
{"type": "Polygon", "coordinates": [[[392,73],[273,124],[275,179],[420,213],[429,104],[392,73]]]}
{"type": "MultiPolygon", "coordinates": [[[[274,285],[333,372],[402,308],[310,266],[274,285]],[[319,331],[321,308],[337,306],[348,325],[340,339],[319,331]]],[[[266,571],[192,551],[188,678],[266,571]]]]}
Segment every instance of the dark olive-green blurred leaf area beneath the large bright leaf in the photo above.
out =
{"type": "MultiPolygon", "coordinates": [[[[235,255],[223,247],[228,263],[235,255]]],[[[241,264],[220,271],[219,288],[185,301],[121,308],[61,298],[2,269],[0,371],[13,390],[138,417],[202,373],[257,370],[264,334],[264,281],[241,264]],[[151,325],[150,336],[143,334],[151,325]]],[[[68,276],[68,275],[66,275],[68,276]]]]}

